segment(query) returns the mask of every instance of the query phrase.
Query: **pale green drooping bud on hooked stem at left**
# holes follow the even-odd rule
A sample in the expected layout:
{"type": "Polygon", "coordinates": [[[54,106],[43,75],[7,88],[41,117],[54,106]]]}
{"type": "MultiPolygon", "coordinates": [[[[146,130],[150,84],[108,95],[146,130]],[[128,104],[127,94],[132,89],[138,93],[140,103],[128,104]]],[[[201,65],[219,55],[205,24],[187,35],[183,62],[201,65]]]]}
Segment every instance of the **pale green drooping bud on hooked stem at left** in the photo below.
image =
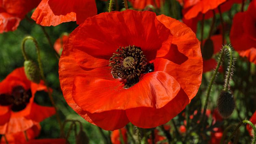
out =
{"type": "Polygon", "coordinates": [[[28,80],[39,84],[40,83],[40,72],[37,64],[31,60],[24,61],[24,70],[28,80]]]}

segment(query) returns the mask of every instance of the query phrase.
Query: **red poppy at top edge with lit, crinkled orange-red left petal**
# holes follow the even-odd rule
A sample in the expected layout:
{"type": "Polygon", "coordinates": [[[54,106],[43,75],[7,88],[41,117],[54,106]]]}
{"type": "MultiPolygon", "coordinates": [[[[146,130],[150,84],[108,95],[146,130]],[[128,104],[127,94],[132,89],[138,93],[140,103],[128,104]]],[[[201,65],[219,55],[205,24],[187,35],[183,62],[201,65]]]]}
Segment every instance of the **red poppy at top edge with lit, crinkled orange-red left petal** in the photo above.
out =
{"type": "Polygon", "coordinates": [[[69,21],[79,25],[96,14],[95,0],[42,0],[31,18],[42,26],[57,26],[69,21]]]}

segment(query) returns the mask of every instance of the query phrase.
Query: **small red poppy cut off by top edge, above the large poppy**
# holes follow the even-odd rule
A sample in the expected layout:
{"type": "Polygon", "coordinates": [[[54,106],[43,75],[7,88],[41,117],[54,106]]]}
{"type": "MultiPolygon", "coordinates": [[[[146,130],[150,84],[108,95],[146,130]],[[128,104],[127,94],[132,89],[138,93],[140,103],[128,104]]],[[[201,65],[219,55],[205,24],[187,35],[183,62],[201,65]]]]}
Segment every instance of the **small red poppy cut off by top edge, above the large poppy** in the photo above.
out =
{"type": "Polygon", "coordinates": [[[133,8],[137,10],[142,10],[147,5],[153,5],[153,6],[157,6],[157,8],[160,8],[161,1],[163,2],[164,0],[130,0],[133,8]]]}

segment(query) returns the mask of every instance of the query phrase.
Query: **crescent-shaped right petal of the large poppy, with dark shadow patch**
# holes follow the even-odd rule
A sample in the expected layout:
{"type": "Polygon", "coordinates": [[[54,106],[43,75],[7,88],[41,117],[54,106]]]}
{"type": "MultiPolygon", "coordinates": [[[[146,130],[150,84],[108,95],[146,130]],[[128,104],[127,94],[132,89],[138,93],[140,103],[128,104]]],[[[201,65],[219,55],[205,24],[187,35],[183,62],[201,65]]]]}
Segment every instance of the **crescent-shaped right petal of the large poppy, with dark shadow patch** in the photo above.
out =
{"type": "Polygon", "coordinates": [[[173,34],[169,53],[157,58],[155,71],[164,71],[179,82],[191,100],[196,96],[202,80],[202,55],[195,33],[185,24],[171,17],[160,15],[157,19],[173,34]]]}

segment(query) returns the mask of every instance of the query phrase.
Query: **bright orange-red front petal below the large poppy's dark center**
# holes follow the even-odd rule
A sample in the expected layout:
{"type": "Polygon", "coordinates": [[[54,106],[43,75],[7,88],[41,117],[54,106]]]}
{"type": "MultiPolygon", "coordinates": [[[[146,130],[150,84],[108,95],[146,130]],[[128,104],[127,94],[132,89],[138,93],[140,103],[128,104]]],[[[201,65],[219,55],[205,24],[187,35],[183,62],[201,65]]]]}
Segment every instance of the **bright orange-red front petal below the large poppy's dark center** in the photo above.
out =
{"type": "Polygon", "coordinates": [[[72,95],[84,111],[99,113],[140,106],[159,109],[171,101],[179,90],[180,85],[172,76],[158,71],[145,74],[139,83],[128,89],[124,89],[119,80],[77,76],[72,95]]]}

